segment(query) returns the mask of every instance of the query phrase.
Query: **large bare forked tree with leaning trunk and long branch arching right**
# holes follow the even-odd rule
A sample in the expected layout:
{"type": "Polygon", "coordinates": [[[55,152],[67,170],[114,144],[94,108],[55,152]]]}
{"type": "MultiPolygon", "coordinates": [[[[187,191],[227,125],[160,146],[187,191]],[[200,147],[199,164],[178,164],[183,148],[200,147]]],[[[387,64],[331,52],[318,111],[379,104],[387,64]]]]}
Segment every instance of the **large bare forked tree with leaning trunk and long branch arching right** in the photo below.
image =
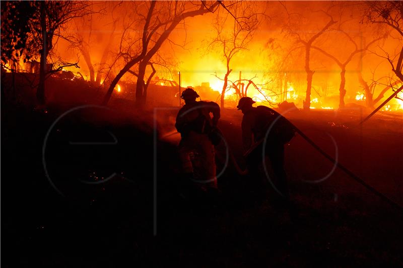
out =
{"type": "Polygon", "coordinates": [[[151,66],[152,58],[166,41],[172,42],[169,40],[172,31],[187,18],[214,13],[220,7],[225,8],[221,1],[152,1],[133,2],[130,5],[133,12],[130,14],[130,21],[125,24],[119,49],[119,56],[124,58],[125,63],[112,80],[103,101],[104,105],[111,98],[120,78],[135,65],[138,65],[136,101],[139,105],[144,105],[147,96],[147,66],[151,66]]]}

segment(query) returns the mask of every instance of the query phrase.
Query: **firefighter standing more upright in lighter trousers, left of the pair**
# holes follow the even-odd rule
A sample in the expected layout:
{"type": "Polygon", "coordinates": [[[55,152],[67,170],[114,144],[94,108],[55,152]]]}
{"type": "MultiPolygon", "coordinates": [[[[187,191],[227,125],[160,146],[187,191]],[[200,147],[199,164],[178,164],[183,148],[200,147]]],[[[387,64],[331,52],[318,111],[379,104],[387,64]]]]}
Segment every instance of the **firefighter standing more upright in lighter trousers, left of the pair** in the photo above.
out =
{"type": "Polygon", "coordinates": [[[182,172],[184,177],[195,178],[190,159],[190,153],[195,151],[200,156],[200,169],[203,169],[201,176],[196,178],[197,184],[203,189],[216,190],[215,149],[209,135],[217,128],[220,107],[214,102],[196,101],[198,97],[192,88],[186,88],[181,95],[185,105],[176,116],[175,128],[181,135],[179,156],[182,172]]]}

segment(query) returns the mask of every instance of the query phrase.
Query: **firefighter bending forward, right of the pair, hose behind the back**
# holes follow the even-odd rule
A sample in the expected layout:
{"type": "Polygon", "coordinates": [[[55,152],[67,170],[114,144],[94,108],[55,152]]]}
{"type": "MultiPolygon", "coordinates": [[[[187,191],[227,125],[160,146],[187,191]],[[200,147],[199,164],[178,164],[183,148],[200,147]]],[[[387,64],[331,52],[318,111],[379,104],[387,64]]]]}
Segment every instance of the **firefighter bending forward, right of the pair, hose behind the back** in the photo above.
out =
{"type": "MultiPolygon", "coordinates": [[[[281,115],[265,106],[252,107],[254,103],[251,98],[243,97],[237,106],[238,110],[243,113],[242,143],[248,170],[252,176],[261,177],[258,170],[260,164],[265,164],[267,157],[274,173],[274,177],[268,175],[269,182],[278,194],[288,200],[287,177],[284,170],[284,144],[294,136],[294,130],[281,115]]],[[[260,170],[260,172],[262,171],[260,170]]],[[[266,172],[265,175],[267,176],[266,172]]]]}

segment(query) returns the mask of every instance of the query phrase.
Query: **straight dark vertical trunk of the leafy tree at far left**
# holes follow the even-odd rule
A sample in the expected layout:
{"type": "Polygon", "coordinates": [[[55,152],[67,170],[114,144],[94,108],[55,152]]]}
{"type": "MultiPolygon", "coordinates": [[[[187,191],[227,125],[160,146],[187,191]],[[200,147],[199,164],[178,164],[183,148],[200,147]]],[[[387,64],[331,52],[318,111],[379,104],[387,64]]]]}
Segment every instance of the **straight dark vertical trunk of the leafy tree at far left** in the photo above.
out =
{"type": "Polygon", "coordinates": [[[45,1],[41,1],[40,4],[40,16],[41,16],[41,31],[42,31],[42,51],[39,67],[39,85],[36,90],[36,99],[39,105],[45,104],[45,67],[46,67],[46,56],[47,56],[47,40],[46,40],[46,10],[45,1]]]}

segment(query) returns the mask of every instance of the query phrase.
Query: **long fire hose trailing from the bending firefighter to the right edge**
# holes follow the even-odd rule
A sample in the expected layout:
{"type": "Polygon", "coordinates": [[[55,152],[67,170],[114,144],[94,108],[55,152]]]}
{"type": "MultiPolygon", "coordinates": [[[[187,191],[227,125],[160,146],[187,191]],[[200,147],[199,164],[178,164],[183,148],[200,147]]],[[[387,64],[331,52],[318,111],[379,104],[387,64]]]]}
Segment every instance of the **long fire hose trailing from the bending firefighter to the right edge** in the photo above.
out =
{"type": "MultiPolygon", "coordinates": [[[[278,117],[283,117],[280,113],[276,112],[275,110],[271,109],[272,112],[278,117]]],[[[293,123],[291,123],[287,118],[283,117],[285,120],[287,120],[287,122],[289,124],[291,124],[291,126],[293,127],[293,129],[295,130],[296,133],[298,133],[304,140],[306,140],[316,151],[318,151],[320,154],[322,154],[326,159],[328,159],[330,162],[332,162],[335,166],[337,166],[338,168],[340,168],[341,170],[343,170],[347,175],[349,175],[354,181],[358,182],[359,184],[361,184],[362,186],[364,186],[367,190],[369,190],[371,193],[373,193],[374,195],[376,195],[377,197],[379,197],[380,199],[386,201],[387,203],[389,203],[390,205],[392,205],[392,207],[395,207],[399,210],[403,211],[403,207],[401,207],[399,204],[397,204],[396,202],[394,202],[393,200],[389,199],[387,196],[385,196],[384,194],[378,192],[375,188],[373,188],[372,186],[370,186],[369,184],[367,184],[366,182],[364,182],[362,180],[362,178],[360,178],[359,176],[357,176],[356,174],[354,174],[350,169],[348,169],[347,167],[345,167],[343,164],[341,164],[339,161],[335,160],[333,157],[331,157],[328,153],[326,153],[324,150],[322,150],[322,148],[320,148],[316,143],[314,143],[308,136],[306,136],[299,128],[297,128],[293,123]]],[[[264,143],[264,140],[260,140],[259,142],[255,143],[254,146],[249,149],[244,156],[247,156],[249,153],[251,153],[253,150],[255,150],[261,143],[264,143]]],[[[236,171],[240,174],[240,175],[246,175],[248,173],[248,170],[242,170],[240,168],[240,166],[238,165],[234,155],[232,154],[232,152],[229,150],[229,154],[231,157],[231,160],[234,164],[234,167],[236,169],[236,171]]]]}

